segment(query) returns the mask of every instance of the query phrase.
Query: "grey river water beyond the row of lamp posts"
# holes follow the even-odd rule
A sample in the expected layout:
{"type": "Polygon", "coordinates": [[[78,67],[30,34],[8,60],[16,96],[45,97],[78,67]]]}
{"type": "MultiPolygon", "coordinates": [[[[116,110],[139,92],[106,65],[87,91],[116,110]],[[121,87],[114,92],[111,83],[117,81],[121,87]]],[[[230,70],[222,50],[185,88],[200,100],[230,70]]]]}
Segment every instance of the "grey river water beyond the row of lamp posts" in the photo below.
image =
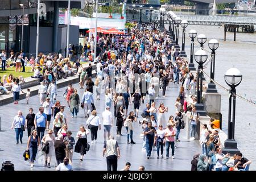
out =
{"type": "MultiPolygon", "coordinates": [[[[242,73],[242,82],[237,86],[237,94],[256,101],[256,33],[237,33],[236,42],[233,41],[233,32],[227,32],[226,41],[224,41],[224,27],[219,26],[188,26],[189,30],[195,29],[197,35],[205,34],[207,42],[204,48],[210,51],[208,42],[210,39],[217,39],[220,46],[216,50],[215,80],[225,88],[229,88],[224,80],[224,74],[229,68],[237,68],[242,73]]],[[[181,33],[180,33],[181,34],[181,33]]],[[[189,57],[190,38],[186,35],[185,51],[189,57]]],[[[197,43],[197,40],[195,40],[197,43]]],[[[179,39],[181,45],[181,37],[179,39]]],[[[197,43],[198,44],[198,43],[197,43]]],[[[199,49],[195,46],[195,52],[199,49]]],[[[210,55],[209,55],[210,56],[210,55]]],[[[208,56],[208,59],[209,59],[208,56]]],[[[194,61],[195,63],[195,61],[194,61]]],[[[197,65],[196,65],[197,68],[197,65]]],[[[210,73],[210,64],[207,65],[205,72],[210,73]]],[[[208,77],[205,76],[208,80],[208,77]]],[[[221,94],[221,113],[222,113],[222,130],[228,133],[228,95],[229,93],[217,86],[218,93],[221,94]]],[[[250,159],[253,163],[250,165],[251,170],[256,170],[256,106],[240,98],[236,100],[236,128],[235,139],[238,142],[238,149],[243,156],[250,159]]]]}

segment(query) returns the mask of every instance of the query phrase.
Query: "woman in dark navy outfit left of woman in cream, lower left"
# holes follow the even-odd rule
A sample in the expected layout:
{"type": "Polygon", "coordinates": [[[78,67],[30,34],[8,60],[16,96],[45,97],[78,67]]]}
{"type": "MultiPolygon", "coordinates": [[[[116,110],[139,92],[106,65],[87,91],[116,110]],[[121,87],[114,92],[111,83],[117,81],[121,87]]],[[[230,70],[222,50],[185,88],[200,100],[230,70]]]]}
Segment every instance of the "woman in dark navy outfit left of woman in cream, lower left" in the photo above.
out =
{"type": "Polygon", "coordinates": [[[40,148],[40,137],[36,130],[33,130],[30,137],[27,140],[27,151],[30,151],[30,167],[34,167],[34,162],[36,158],[36,153],[40,148]]]}

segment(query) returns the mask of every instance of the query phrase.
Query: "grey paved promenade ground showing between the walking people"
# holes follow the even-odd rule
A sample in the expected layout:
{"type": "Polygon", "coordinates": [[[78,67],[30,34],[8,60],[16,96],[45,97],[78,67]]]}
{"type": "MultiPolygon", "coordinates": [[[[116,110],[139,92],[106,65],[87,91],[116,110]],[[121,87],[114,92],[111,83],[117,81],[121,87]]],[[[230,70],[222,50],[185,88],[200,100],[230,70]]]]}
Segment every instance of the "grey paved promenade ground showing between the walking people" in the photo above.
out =
{"type": "MultiPolygon", "coordinates": [[[[75,84],[75,88],[79,90],[80,99],[82,97],[82,93],[84,90],[79,89],[79,85],[75,84]]],[[[61,105],[67,105],[67,102],[64,100],[63,93],[65,88],[61,88],[58,91],[57,100],[61,102],[61,105]]],[[[95,99],[95,105],[98,112],[98,115],[101,116],[102,111],[105,110],[105,96],[104,91],[102,90],[102,94],[100,97],[100,101],[95,99]]],[[[160,97],[156,100],[156,106],[158,107],[160,102],[164,102],[166,106],[168,106],[169,111],[166,114],[166,118],[170,115],[175,115],[175,107],[174,103],[176,97],[178,96],[179,88],[177,85],[173,85],[171,83],[171,88],[167,89],[167,97],[160,97]]],[[[160,94],[162,95],[162,94],[160,94]]],[[[95,91],[94,91],[95,96],[95,91]]],[[[96,97],[94,97],[96,98],[96,97]]],[[[148,96],[146,97],[146,102],[148,102],[148,96]]],[[[145,102],[145,103],[146,103],[145,102]]],[[[11,160],[14,163],[16,170],[54,170],[53,168],[55,164],[55,157],[53,157],[51,161],[51,168],[43,167],[43,156],[41,155],[41,151],[38,152],[36,156],[35,167],[30,168],[30,165],[27,161],[24,161],[23,152],[26,150],[27,143],[27,130],[23,133],[23,144],[16,144],[15,140],[15,131],[11,130],[11,123],[13,122],[14,116],[18,113],[18,110],[22,110],[24,117],[28,114],[28,108],[32,107],[34,112],[37,113],[39,109],[39,96],[33,96],[30,98],[30,104],[25,104],[26,100],[19,101],[18,105],[8,104],[0,107],[0,116],[1,116],[1,132],[0,132],[0,163],[3,160],[11,160]]],[[[142,104],[140,110],[145,108],[146,104],[142,104]]],[[[129,111],[133,109],[133,105],[129,106],[129,111]]],[[[72,118],[71,113],[68,107],[65,109],[65,114],[67,115],[67,121],[69,130],[72,131],[73,137],[75,138],[77,131],[79,131],[80,125],[85,125],[86,119],[84,118],[84,111],[79,108],[79,114],[77,118],[72,118]]],[[[112,111],[114,110],[112,106],[112,111]]],[[[140,114],[139,114],[140,115],[140,114]]],[[[139,118],[138,121],[142,119],[139,118]]],[[[126,139],[126,129],[122,128],[122,137],[116,137],[116,126],[114,120],[114,126],[112,128],[112,134],[114,134],[115,139],[117,139],[119,143],[119,147],[121,150],[121,158],[118,160],[118,170],[122,169],[125,166],[126,162],[131,163],[131,170],[138,170],[140,165],[146,167],[146,170],[190,170],[191,169],[191,160],[192,156],[196,152],[200,152],[200,144],[198,141],[189,141],[185,138],[185,129],[180,132],[180,143],[176,143],[177,148],[175,148],[175,159],[156,159],[156,151],[152,151],[152,159],[146,159],[146,152],[142,151],[142,143],[143,138],[140,137],[142,133],[141,125],[139,123],[135,123],[134,129],[134,141],[136,144],[127,144],[126,139]]],[[[51,122],[52,126],[52,122],[51,122]]],[[[51,128],[50,126],[50,128],[51,128]]],[[[77,141],[77,139],[75,138],[77,141]]],[[[88,135],[88,142],[90,142],[90,134],[88,135]]],[[[84,161],[80,162],[79,157],[80,154],[73,154],[73,169],[74,170],[106,170],[106,159],[102,157],[102,149],[103,149],[103,130],[98,131],[98,139],[96,144],[90,144],[90,151],[84,156],[84,161]]],[[[166,155],[166,148],[164,148],[164,156],[166,155]]],[[[170,148],[171,152],[171,148],[170,148]]]]}

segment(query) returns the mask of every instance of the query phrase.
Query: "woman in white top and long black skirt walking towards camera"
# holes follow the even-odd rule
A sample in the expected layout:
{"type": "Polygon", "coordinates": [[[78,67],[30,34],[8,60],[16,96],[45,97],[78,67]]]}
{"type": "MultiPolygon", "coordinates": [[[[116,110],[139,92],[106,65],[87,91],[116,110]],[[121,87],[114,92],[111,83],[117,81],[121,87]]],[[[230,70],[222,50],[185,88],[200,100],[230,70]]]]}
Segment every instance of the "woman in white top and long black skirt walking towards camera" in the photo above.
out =
{"type": "Polygon", "coordinates": [[[80,160],[82,161],[86,154],[85,148],[87,147],[87,135],[89,131],[84,126],[80,126],[80,131],[77,132],[76,138],[78,138],[75,146],[75,152],[80,153],[80,160]]]}

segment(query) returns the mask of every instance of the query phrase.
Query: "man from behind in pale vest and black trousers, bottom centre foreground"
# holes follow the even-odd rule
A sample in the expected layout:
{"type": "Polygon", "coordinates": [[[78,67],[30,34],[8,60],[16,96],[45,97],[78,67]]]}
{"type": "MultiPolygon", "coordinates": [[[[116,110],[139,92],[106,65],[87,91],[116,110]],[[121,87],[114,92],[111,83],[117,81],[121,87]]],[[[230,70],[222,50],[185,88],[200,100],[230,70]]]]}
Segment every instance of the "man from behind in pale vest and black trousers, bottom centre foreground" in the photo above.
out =
{"type": "Polygon", "coordinates": [[[117,140],[110,135],[109,140],[105,142],[103,148],[103,156],[106,156],[107,170],[117,171],[117,159],[120,158],[120,149],[117,140]]]}

